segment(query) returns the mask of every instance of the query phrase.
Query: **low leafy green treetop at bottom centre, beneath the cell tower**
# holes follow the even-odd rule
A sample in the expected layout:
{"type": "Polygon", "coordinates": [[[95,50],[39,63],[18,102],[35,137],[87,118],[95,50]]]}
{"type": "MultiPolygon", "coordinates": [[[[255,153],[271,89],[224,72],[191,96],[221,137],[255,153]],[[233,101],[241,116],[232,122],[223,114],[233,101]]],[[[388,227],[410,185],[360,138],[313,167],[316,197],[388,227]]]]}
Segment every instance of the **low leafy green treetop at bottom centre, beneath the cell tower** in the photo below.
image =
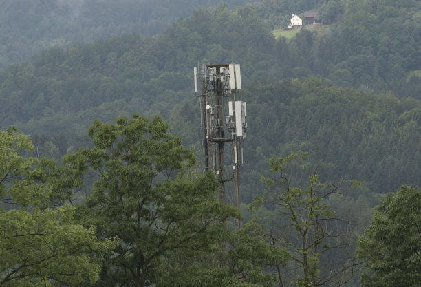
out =
{"type": "Polygon", "coordinates": [[[257,220],[239,231],[221,233],[228,244],[213,246],[212,253],[175,251],[164,259],[156,286],[174,287],[272,287],[274,264],[285,266],[288,251],[272,248],[261,237],[257,220]]]}

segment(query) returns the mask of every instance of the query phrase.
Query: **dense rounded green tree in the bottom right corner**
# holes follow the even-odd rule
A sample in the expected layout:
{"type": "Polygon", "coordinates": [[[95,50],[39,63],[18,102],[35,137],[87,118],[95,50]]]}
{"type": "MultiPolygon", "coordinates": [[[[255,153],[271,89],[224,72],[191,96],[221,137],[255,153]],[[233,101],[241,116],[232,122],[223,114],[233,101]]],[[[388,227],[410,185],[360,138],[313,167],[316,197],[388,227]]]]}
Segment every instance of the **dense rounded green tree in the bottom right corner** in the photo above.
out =
{"type": "Polygon", "coordinates": [[[364,287],[420,286],[421,191],[402,186],[389,193],[358,239],[357,255],[367,262],[364,287]]]}

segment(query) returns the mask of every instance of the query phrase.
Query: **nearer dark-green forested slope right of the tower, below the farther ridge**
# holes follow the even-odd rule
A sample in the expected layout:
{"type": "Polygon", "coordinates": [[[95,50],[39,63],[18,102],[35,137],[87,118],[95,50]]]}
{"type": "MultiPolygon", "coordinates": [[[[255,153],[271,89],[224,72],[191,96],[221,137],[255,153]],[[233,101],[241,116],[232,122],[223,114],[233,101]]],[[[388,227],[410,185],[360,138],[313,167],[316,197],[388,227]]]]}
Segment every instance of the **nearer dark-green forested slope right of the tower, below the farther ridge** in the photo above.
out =
{"type": "MultiPolygon", "coordinates": [[[[258,182],[266,162],[306,151],[325,167],[321,181],[355,178],[374,193],[420,184],[420,102],[334,87],[316,78],[259,84],[243,91],[253,113],[244,142],[243,182],[258,182]],[[264,123],[270,123],[266,125],[264,123]],[[261,172],[255,172],[261,171],[261,172]]],[[[249,184],[244,182],[244,184],[249,184]]],[[[250,183],[251,184],[251,183],[250,183]]],[[[254,183],[247,189],[263,189],[254,183]]],[[[244,190],[244,189],[243,189],[244,190]]],[[[351,195],[358,198],[358,189],[351,195]]],[[[242,198],[250,202],[251,192],[242,198]]],[[[374,201],[372,203],[376,205],[374,201]]]]}

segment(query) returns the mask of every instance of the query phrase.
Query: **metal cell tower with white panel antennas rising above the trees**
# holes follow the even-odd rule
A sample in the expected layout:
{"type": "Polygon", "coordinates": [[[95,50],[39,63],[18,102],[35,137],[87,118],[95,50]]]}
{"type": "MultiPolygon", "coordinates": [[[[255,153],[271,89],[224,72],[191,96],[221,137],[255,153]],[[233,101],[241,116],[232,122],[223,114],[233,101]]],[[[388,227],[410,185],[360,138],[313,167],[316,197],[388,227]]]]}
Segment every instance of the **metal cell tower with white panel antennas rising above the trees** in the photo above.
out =
{"type": "MultiPolygon", "coordinates": [[[[195,93],[201,98],[205,169],[213,169],[217,175],[222,204],[226,204],[225,183],[234,182],[234,205],[239,209],[239,166],[243,163],[240,143],[247,129],[246,102],[239,100],[240,65],[204,64],[200,71],[194,67],[194,77],[195,93]],[[228,142],[233,146],[232,173],[225,170],[224,148],[228,142]]],[[[237,229],[241,228],[239,220],[235,223],[237,229]]]]}

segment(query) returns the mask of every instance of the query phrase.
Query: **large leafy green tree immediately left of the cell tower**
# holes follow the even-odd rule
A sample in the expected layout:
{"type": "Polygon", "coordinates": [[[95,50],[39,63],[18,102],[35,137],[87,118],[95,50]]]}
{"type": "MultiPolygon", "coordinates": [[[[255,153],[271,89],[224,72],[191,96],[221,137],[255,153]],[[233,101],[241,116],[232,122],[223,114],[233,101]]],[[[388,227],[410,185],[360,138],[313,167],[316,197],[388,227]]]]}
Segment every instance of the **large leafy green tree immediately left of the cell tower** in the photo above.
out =
{"type": "Polygon", "coordinates": [[[237,216],[216,199],[213,173],[184,180],[195,157],[167,129],[159,116],[96,120],[89,128],[94,148],[63,159],[98,176],[79,211],[82,220],[97,226],[98,237],[120,239],[105,257],[99,286],[153,284],[166,255],[210,252],[226,229],[224,219],[237,216]]]}

